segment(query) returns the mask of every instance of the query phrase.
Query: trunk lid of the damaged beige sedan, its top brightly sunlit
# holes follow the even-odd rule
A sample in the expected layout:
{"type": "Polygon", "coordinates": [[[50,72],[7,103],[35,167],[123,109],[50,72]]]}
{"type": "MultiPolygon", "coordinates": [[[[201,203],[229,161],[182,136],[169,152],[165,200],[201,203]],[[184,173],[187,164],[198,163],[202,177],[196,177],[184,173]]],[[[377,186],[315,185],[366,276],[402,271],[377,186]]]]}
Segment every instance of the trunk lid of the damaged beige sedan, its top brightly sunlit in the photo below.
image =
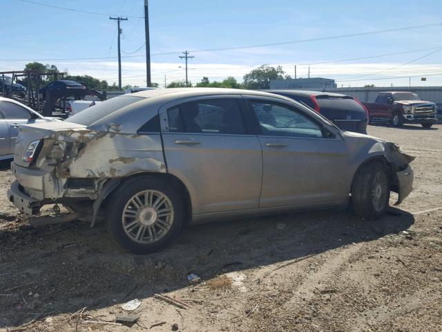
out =
{"type": "MultiPolygon", "coordinates": [[[[30,163],[23,160],[23,155],[31,142],[50,138],[57,131],[69,131],[86,129],[83,124],[73,122],[54,121],[39,122],[35,124],[21,124],[19,136],[15,141],[14,163],[23,167],[29,167],[30,163]]],[[[43,142],[41,142],[42,144],[43,142]]],[[[37,158],[37,156],[35,156],[37,158]]]]}

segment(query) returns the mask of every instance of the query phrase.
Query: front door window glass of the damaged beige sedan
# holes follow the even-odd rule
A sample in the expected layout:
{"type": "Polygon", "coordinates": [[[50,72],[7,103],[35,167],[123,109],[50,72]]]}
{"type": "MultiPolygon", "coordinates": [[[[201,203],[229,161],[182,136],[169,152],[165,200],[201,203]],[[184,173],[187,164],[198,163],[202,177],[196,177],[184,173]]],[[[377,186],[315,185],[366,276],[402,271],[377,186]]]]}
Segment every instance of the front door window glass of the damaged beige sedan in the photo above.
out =
{"type": "Polygon", "coordinates": [[[262,135],[323,138],[320,125],[292,107],[262,101],[252,101],[251,107],[262,135]]]}

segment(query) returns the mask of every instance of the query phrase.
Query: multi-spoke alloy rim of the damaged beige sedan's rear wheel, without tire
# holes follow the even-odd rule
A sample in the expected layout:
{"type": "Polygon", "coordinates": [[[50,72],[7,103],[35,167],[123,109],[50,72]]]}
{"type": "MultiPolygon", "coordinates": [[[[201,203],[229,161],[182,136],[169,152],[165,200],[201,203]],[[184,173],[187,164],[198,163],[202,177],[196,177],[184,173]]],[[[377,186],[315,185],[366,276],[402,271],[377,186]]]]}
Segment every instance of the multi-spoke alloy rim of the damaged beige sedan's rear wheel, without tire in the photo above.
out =
{"type": "Polygon", "coordinates": [[[123,209],[122,225],[126,235],[137,243],[155,243],[171,229],[173,205],[157,190],[143,190],[133,195],[123,209]]]}

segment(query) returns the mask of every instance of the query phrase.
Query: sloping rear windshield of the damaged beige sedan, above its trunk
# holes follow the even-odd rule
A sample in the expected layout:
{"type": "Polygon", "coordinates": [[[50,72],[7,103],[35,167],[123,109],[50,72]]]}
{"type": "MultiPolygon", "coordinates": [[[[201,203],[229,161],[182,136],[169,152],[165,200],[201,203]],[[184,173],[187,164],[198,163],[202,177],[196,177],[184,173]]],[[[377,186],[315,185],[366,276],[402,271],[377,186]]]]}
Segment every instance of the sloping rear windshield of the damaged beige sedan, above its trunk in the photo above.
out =
{"type": "Polygon", "coordinates": [[[89,107],[75,114],[75,116],[67,118],[65,121],[90,126],[90,124],[97,122],[105,116],[143,99],[143,97],[135,97],[133,95],[120,95],[119,97],[95,104],[93,107],[89,107]]]}

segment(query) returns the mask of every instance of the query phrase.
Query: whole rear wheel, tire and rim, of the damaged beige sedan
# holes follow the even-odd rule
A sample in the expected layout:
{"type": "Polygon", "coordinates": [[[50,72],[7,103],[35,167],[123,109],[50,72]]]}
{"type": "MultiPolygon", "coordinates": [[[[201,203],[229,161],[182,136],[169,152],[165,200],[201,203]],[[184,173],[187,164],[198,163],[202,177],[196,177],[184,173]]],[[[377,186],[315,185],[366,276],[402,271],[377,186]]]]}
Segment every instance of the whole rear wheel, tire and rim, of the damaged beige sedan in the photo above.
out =
{"type": "Polygon", "coordinates": [[[108,199],[106,207],[109,235],[119,246],[134,254],[164,248],[180,232],[184,219],[182,198],[175,187],[151,176],[131,178],[122,183],[108,199]],[[148,203],[149,198],[151,203],[148,203]],[[155,207],[155,204],[160,205],[155,207]],[[158,217],[160,210],[164,215],[158,217]]]}

